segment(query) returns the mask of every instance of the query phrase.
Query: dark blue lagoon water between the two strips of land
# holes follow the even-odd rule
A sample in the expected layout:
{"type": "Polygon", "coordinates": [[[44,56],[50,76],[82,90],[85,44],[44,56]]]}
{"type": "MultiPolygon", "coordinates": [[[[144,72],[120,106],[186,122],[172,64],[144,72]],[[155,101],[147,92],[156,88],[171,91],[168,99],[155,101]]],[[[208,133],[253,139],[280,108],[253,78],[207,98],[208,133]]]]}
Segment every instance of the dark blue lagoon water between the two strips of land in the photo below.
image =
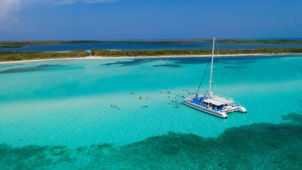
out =
{"type": "MultiPolygon", "coordinates": [[[[259,48],[302,48],[302,44],[283,43],[217,43],[219,49],[259,49],[259,48]]],[[[0,48],[0,51],[12,52],[46,52],[70,51],[92,49],[118,49],[118,50],[164,50],[164,49],[212,49],[211,42],[192,42],[176,44],[152,44],[152,42],[104,42],[104,43],[77,43],[77,44],[49,44],[24,46],[22,48],[0,48]]]]}

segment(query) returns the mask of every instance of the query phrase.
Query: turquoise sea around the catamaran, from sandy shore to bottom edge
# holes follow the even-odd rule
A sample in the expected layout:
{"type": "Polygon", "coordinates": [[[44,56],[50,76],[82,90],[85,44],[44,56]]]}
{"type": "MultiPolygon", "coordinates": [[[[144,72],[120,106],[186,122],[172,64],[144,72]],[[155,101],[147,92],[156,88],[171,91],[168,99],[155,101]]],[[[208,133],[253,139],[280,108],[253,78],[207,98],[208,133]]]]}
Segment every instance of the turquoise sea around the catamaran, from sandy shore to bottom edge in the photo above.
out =
{"type": "Polygon", "coordinates": [[[197,91],[208,57],[1,64],[0,169],[301,169],[301,55],[221,60],[212,91],[248,113],[168,104],[197,91]]]}

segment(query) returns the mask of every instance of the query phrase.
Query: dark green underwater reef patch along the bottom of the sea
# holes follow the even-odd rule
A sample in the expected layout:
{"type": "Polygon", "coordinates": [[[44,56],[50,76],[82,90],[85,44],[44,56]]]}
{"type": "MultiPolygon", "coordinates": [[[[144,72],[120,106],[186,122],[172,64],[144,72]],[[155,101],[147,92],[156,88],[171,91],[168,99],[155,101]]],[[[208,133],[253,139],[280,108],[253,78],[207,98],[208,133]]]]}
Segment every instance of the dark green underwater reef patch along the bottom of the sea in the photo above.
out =
{"type": "Polygon", "coordinates": [[[216,138],[169,132],[122,146],[0,144],[0,169],[302,169],[302,112],[281,118],[216,138]]]}

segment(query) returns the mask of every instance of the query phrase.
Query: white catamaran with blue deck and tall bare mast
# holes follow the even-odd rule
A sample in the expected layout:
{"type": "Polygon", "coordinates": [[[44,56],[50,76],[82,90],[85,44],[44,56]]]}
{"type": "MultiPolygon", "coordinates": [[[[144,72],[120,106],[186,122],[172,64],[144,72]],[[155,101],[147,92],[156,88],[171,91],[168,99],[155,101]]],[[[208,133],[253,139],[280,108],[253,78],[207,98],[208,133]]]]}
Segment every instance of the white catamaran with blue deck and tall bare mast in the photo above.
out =
{"type": "Polygon", "coordinates": [[[195,95],[188,97],[187,99],[184,99],[184,104],[193,107],[195,109],[204,111],[206,113],[210,113],[212,115],[223,117],[223,118],[227,118],[226,114],[234,111],[240,111],[246,113],[247,110],[243,106],[241,106],[239,102],[234,101],[233,98],[221,96],[221,95],[214,95],[213,92],[211,91],[211,83],[213,82],[212,73],[213,73],[214,45],[215,45],[215,37],[213,40],[209,93],[205,94],[204,96],[198,96],[197,94],[199,90],[198,89],[195,95]]]}

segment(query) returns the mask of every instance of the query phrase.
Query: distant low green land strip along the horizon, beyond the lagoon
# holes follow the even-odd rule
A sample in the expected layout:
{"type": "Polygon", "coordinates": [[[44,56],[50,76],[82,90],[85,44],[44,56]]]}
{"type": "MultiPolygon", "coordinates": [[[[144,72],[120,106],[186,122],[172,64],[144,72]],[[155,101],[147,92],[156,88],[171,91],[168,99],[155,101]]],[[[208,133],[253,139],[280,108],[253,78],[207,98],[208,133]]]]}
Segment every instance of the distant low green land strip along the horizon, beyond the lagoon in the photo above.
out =
{"type": "MultiPolygon", "coordinates": [[[[175,40],[87,40],[87,41],[0,41],[2,48],[20,48],[25,45],[44,45],[44,44],[68,44],[68,43],[103,43],[103,42],[145,42],[151,44],[173,44],[173,43],[190,43],[190,42],[212,42],[212,39],[175,39],[175,40]]],[[[225,43],[299,43],[298,40],[256,40],[256,39],[216,39],[217,42],[225,43]]],[[[144,44],[144,43],[143,43],[144,44]]]]}

